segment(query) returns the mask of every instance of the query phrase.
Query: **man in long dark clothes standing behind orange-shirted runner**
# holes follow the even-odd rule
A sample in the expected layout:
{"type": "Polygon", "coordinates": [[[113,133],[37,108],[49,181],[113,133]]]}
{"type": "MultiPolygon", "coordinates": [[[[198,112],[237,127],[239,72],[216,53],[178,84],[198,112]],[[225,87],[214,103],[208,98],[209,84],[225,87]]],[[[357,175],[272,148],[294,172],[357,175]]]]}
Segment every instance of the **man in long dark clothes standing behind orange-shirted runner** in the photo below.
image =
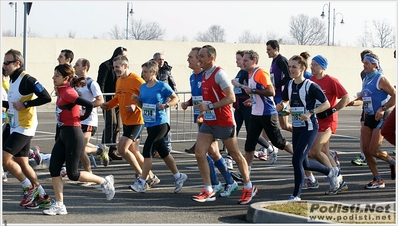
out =
{"type": "MultiPolygon", "coordinates": [[[[124,47],[117,47],[113,51],[113,55],[109,60],[104,61],[98,69],[97,82],[104,93],[105,102],[112,99],[113,95],[106,95],[107,93],[115,93],[117,75],[113,71],[113,59],[117,56],[126,56],[127,49],[124,47]]],[[[101,143],[109,145],[109,157],[112,160],[121,160],[122,157],[116,152],[116,144],[119,142],[119,132],[122,130],[122,123],[119,114],[119,107],[115,107],[109,111],[103,111],[105,128],[102,133],[101,143]]]]}

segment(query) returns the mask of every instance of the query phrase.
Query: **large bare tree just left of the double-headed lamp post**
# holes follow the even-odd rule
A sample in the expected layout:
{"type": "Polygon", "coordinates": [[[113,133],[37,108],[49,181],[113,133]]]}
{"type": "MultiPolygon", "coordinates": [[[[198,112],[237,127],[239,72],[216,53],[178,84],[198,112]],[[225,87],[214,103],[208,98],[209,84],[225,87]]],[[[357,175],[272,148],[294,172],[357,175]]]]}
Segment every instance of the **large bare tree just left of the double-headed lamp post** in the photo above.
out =
{"type": "Polygon", "coordinates": [[[323,45],[326,43],[325,24],[318,17],[305,14],[290,18],[290,35],[298,45],[323,45]]]}

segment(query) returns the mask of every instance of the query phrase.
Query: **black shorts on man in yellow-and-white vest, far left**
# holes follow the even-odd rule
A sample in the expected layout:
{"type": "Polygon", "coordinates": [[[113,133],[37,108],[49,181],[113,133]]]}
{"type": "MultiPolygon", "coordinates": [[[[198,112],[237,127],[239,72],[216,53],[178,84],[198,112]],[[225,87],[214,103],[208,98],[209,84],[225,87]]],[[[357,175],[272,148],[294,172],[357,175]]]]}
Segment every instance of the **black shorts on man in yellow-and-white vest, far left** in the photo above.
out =
{"type": "Polygon", "coordinates": [[[16,132],[11,133],[3,143],[3,150],[15,157],[29,157],[30,140],[32,137],[16,132]]]}

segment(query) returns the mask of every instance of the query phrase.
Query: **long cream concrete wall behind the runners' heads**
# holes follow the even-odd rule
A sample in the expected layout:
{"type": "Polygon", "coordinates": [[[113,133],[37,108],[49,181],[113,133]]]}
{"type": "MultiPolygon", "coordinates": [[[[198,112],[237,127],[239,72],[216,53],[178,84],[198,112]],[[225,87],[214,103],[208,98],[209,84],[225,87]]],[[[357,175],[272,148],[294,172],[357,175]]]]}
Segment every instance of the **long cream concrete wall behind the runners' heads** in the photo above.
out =
{"type": "MultiPolygon", "coordinates": [[[[10,48],[23,52],[23,40],[19,37],[2,37],[1,58],[10,48]]],[[[62,49],[71,49],[75,59],[84,57],[90,60],[89,76],[96,79],[99,65],[112,56],[118,46],[128,49],[130,69],[141,73],[141,64],[152,58],[155,52],[163,52],[165,60],[173,67],[172,74],[178,91],[189,91],[187,55],[192,47],[208,43],[172,42],[172,41],[135,41],[135,40],[100,40],[100,39],[62,39],[62,38],[29,38],[27,40],[27,71],[36,77],[51,92],[54,67],[62,49]]],[[[210,43],[217,50],[217,65],[226,70],[233,79],[238,71],[235,63],[235,52],[240,49],[253,49],[260,55],[259,65],[269,70],[271,59],[265,52],[265,44],[210,43]]],[[[364,48],[282,45],[280,52],[288,59],[295,54],[308,51],[311,57],[321,54],[329,61],[328,74],[338,78],[351,96],[361,89],[359,73],[362,70],[359,53],[364,48]]],[[[397,81],[397,61],[393,58],[393,49],[369,48],[376,53],[385,75],[395,85],[397,81]]],[[[2,61],[1,60],[1,61],[2,61]]],[[[53,99],[54,101],[55,99],[53,99]]]]}

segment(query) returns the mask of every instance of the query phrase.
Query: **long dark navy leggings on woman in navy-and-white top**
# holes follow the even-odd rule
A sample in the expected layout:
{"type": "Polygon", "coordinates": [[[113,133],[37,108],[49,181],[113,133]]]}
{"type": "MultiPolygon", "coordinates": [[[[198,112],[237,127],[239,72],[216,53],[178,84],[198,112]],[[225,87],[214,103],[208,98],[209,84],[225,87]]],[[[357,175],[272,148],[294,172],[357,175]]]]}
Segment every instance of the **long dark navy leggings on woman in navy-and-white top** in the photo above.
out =
{"type": "Polygon", "coordinates": [[[330,169],[318,161],[309,160],[308,152],[318,134],[318,123],[314,123],[314,129],[308,131],[308,127],[293,127],[293,169],[294,169],[294,191],[293,196],[300,197],[304,183],[304,170],[316,171],[329,175],[330,169]]]}

